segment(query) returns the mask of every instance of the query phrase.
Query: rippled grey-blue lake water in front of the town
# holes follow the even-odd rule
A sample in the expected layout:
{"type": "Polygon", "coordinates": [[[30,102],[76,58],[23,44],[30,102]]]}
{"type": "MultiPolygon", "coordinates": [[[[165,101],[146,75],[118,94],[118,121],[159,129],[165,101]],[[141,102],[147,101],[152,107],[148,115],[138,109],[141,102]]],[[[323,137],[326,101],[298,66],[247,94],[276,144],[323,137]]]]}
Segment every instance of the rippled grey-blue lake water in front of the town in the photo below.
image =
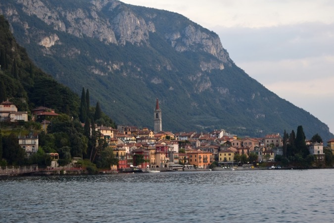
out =
{"type": "Polygon", "coordinates": [[[334,169],[0,178],[1,223],[327,223],[334,169]]]}

